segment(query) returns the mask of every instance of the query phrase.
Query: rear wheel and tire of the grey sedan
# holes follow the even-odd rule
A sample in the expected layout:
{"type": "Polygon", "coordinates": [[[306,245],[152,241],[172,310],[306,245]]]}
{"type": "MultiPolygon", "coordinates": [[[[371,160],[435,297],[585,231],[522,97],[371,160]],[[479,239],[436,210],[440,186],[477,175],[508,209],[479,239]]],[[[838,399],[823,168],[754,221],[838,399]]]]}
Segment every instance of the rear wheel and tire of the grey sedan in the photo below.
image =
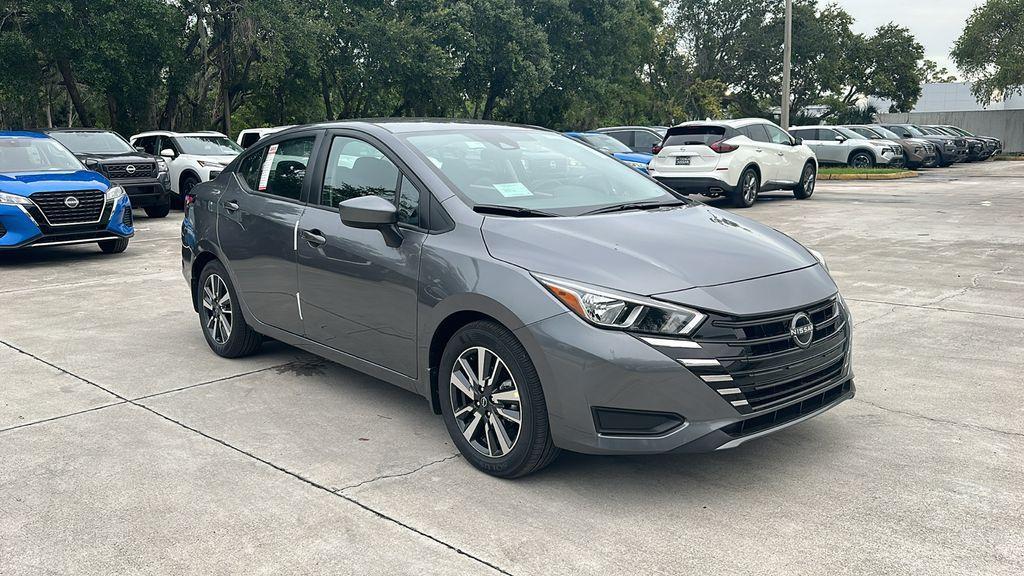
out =
{"type": "Polygon", "coordinates": [[[203,336],[217,356],[223,358],[242,358],[254,354],[263,337],[246,322],[239,305],[239,295],[231,284],[231,279],[220,262],[214,260],[203,268],[199,276],[199,318],[203,328],[203,336]],[[213,298],[207,297],[207,285],[213,283],[222,288],[211,291],[213,298]],[[226,306],[222,294],[228,299],[226,306]],[[225,314],[226,313],[226,314],[225,314]],[[226,330],[224,329],[226,325],[226,330]]]}

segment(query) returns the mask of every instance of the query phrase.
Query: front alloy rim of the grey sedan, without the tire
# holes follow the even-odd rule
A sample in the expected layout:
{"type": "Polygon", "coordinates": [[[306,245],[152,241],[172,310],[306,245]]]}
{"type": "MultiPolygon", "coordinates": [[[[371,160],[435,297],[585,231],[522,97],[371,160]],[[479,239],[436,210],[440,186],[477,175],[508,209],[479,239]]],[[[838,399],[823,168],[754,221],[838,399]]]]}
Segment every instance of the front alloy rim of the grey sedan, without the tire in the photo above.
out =
{"type": "Polygon", "coordinates": [[[464,351],[452,368],[452,411],[466,442],[488,458],[507,455],[522,429],[519,387],[508,366],[483,346],[464,351]]]}

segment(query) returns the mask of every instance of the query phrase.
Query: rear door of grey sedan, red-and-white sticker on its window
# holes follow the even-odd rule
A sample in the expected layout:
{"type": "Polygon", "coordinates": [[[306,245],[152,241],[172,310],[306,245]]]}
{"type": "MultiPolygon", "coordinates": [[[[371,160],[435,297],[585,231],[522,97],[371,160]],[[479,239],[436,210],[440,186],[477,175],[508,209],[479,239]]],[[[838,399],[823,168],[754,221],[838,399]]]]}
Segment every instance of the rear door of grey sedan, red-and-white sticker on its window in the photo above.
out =
{"type": "Polygon", "coordinates": [[[253,147],[218,200],[217,237],[256,320],[302,333],[296,229],[316,134],[253,147]]]}

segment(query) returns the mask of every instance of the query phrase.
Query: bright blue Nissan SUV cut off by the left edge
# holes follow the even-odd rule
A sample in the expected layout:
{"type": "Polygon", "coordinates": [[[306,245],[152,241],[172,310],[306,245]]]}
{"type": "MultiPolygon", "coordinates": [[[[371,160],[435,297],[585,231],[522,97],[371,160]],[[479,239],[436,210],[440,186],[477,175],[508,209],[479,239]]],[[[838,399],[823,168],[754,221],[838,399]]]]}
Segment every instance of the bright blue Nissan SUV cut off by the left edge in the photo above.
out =
{"type": "Polygon", "coordinates": [[[115,254],[134,234],[123,188],[44,134],[0,131],[0,250],[95,242],[115,254]]]}

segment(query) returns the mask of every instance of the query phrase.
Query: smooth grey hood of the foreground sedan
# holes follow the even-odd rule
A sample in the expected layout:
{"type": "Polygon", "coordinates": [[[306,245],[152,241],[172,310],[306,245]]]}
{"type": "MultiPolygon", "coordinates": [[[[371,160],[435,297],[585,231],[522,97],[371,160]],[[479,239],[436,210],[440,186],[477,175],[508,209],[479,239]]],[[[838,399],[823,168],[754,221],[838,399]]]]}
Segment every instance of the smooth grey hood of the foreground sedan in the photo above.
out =
{"type": "Polygon", "coordinates": [[[528,271],[652,295],[817,263],[795,240],[703,204],[557,218],[486,217],[489,253],[528,271]]]}

